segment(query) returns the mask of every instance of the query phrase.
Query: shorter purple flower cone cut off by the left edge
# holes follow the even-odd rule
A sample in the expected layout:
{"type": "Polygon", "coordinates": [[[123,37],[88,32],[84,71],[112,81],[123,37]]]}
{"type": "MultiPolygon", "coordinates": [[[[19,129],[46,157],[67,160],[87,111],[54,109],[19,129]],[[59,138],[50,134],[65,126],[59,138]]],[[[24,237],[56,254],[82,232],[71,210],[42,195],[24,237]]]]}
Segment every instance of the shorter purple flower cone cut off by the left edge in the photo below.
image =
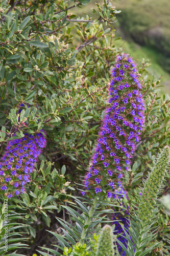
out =
{"type": "Polygon", "coordinates": [[[0,193],[8,198],[25,192],[46,139],[42,133],[25,136],[8,142],[0,162],[0,193]]]}

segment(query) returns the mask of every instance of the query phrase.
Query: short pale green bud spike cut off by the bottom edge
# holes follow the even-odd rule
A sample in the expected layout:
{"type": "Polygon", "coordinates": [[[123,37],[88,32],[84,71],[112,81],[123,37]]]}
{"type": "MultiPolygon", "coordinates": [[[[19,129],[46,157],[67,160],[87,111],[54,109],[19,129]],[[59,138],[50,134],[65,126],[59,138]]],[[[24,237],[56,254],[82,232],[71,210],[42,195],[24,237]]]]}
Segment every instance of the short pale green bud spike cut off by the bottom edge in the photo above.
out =
{"type": "Polygon", "coordinates": [[[102,229],[95,256],[113,256],[113,231],[109,225],[102,229]]]}

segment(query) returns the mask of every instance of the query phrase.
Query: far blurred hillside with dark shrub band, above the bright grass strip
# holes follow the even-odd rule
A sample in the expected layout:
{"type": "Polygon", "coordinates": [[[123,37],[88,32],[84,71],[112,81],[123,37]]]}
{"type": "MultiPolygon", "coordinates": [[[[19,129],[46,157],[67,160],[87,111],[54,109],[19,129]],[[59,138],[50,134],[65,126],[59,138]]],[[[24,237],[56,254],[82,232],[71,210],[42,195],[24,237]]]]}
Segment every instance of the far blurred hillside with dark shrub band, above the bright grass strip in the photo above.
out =
{"type": "Polygon", "coordinates": [[[115,25],[122,28],[126,38],[162,52],[159,63],[170,73],[170,1],[117,0],[114,5],[122,10],[115,25]]]}

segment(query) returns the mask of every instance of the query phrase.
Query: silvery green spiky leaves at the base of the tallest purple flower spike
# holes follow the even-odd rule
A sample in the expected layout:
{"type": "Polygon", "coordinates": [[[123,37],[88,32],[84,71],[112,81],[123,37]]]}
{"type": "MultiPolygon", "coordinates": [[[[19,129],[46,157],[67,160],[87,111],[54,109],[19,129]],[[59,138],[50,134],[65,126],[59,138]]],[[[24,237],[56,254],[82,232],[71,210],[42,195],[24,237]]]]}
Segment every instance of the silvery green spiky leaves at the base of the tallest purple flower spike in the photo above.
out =
{"type": "MultiPolygon", "coordinates": [[[[72,197],[74,198],[74,197],[72,197]]],[[[56,245],[64,251],[64,247],[72,247],[76,243],[88,244],[89,239],[93,239],[93,232],[99,234],[101,231],[101,223],[112,223],[112,220],[108,218],[111,214],[112,209],[99,210],[101,207],[113,207],[114,204],[109,201],[104,201],[102,198],[95,197],[94,199],[87,198],[74,198],[77,205],[74,208],[69,206],[63,206],[64,209],[68,211],[73,223],[57,218],[60,223],[61,229],[64,232],[64,236],[59,233],[49,231],[53,236],[55,236],[60,244],[56,245]],[[88,207],[86,206],[88,204],[88,207]],[[90,206],[90,207],[89,207],[90,206]],[[81,210],[81,211],[80,211],[81,210]]],[[[41,247],[43,250],[50,251],[54,253],[53,249],[41,247]]],[[[41,255],[45,256],[46,253],[39,251],[41,255]]],[[[52,256],[52,254],[48,254],[52,256]]],[[[60,256],[57,251],[55,255],[60,256]]]]}

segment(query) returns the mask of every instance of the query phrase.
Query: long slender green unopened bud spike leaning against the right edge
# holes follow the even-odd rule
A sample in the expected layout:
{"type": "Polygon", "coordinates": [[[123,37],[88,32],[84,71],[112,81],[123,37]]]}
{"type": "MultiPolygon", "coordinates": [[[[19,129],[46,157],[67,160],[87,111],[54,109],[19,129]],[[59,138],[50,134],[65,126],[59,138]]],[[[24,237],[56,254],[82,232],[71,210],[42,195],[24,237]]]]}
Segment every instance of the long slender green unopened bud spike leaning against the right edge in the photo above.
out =
{"type": "Polygon", "coordinates": [[[138,207],[138,216],[141,220],[150,221],[153,216],[154,206],[156,205],[156,200],[169,163],[169,155],[170,148],[165,146],[155,166],[152,168],[148,179],[145,181],[138,207]]]}

